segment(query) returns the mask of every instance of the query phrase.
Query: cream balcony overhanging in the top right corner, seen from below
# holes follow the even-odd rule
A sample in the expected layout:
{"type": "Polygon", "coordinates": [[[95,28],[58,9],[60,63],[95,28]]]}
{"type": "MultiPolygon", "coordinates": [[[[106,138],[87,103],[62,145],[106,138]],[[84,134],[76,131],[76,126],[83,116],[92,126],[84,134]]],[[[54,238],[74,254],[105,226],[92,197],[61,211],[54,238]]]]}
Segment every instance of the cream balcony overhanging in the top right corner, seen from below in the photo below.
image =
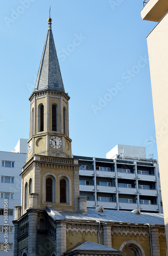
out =
{"type": "Polygon", "coordinates": [[[143,9],[141,10],[141,17],[145,20],[159,22],[159,20],[168,11],[167,0],[146,0],[143,1],[143,9]]]}

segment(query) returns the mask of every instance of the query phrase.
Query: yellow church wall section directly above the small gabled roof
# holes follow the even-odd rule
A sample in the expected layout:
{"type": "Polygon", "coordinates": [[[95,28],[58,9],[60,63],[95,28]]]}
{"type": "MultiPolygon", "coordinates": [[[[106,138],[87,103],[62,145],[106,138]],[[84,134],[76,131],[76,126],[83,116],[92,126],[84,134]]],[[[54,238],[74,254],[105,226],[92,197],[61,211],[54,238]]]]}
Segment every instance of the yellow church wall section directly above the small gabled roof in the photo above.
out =
{"type": "MultiPolygon", "coordinates": [[[[91,241],[93,243],[98,243],[98,233],[95,232],[85,232],[82,233],[78,231],[71,232],[70,230],[66,233],[66,249],[69,250],[75,247],[78,243],[84,243],[86,241],[91,241]]],[[[103,244],[103,237],[100,234],[100,244],[103,244]]]]}

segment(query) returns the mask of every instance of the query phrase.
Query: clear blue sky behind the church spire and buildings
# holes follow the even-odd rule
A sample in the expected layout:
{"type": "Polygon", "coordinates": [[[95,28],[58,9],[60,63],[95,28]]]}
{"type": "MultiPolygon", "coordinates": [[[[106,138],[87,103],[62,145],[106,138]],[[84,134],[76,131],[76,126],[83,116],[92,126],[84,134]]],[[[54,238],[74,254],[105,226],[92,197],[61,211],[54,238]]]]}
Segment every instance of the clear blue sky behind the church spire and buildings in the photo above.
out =
{"type": "Polygon", "coordinates": [[[52,29],[74,155],[106,157],[116,144],[146,146],[157,159],[143,0],[20,0],[1,3],[0,151],[29,138],[30,102],[52,29]]]}

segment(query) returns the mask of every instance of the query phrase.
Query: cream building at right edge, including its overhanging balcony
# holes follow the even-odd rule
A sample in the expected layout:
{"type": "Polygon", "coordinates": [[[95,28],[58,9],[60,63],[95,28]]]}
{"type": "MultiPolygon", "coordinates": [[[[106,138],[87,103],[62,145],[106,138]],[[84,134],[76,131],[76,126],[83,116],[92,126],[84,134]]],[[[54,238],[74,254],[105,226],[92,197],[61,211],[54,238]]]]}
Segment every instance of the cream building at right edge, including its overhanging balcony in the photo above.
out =
{"type": "Polygon", "coordinates": [[[168,177],[166,168],[166,159],[168,152],[168,2],[164,0],[149,0],[148,2],[146,1],[146,3],[147,4],[141,10],[142,19],[157,22],[154,29],[147,36],[147,43],[150,63],[152,98],[158,150],[158,162],[160,169],[160,182],[162,189],[164,221],[168,243],[168,177]]]}

